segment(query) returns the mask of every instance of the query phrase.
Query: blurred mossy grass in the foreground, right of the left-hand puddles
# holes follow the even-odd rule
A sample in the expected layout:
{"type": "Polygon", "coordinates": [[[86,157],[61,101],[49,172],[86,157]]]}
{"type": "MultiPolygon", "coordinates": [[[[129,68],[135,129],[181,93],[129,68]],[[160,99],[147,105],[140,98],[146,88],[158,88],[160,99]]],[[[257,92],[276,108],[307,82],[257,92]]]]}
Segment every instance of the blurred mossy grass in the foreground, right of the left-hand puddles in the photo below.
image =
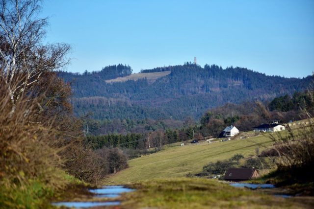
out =
{"type": "Polygon", "coordinates": [[[275,197],[204,178],[159,179],[127,186],[137,190],[123,195],[122,209],[310,209],[314,206],[313,198],[275,197]]]}

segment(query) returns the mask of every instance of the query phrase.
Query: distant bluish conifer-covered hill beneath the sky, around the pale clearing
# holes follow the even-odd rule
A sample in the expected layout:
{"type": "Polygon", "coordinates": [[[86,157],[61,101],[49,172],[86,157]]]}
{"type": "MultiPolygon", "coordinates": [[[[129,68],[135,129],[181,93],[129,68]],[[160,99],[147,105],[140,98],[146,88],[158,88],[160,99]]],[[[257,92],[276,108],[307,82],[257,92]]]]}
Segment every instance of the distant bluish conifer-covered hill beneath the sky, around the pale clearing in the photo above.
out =
{"type": "Polygon", "coordinates": [[[217,65],[204,68],[184,65],[142,70],[171,71],[148,82],[147,78],[106,83],[105,80],[131,74],[129,66],[108,66],[99,72],[75,74],[60,71],[74,91],[73,105],[77,115],[93,112],[96,119],[113,118],[199,118],[204,111],[227,102],[268,100],[283,94],[305,90],[313,80],[267,76],[246,68],[217,65]]]}

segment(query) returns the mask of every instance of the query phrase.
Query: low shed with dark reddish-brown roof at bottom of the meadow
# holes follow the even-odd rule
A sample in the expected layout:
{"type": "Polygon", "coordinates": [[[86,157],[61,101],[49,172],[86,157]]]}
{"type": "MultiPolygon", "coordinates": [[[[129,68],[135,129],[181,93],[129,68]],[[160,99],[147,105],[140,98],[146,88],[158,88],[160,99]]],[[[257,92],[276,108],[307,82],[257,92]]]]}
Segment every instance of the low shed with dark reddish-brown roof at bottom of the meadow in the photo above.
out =
{"type": "Polygon", "coordinates": [[[228,181],[245,181],[259,177],[255,168],[229,168],[224,179],[228,181]]]}

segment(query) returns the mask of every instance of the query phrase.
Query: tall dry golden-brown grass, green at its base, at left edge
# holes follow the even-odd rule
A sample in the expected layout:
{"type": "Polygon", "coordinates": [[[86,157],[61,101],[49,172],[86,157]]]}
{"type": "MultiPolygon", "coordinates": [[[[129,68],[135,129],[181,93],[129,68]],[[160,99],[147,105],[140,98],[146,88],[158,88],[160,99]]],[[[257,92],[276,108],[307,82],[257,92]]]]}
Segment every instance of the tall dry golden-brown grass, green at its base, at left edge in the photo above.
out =
{"type": "MultiPolygon", "coordinates": [[[[14,84],[23,82],[23,76],[14,84]]],[[[49,86],[49,83],[47,83],[49,86]]],[[[12,111],[8,85],[0,85],[0,208],[40,208],[44,197],[63,189],[60,131],[44,115],[47,91],[20,95],[12,111]]]]}

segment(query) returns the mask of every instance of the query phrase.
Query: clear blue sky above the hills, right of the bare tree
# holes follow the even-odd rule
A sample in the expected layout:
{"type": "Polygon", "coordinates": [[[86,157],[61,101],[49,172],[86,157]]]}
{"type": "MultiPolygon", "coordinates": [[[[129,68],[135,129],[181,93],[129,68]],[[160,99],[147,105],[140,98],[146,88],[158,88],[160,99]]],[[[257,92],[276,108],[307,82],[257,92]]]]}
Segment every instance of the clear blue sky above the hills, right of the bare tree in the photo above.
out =
{"type": "Polygon", "coordinates": [[[68,71],[138,72],[194,61],[303,77],[314,70],[314,0],[44,0],[46,41],[68,71]]]}

